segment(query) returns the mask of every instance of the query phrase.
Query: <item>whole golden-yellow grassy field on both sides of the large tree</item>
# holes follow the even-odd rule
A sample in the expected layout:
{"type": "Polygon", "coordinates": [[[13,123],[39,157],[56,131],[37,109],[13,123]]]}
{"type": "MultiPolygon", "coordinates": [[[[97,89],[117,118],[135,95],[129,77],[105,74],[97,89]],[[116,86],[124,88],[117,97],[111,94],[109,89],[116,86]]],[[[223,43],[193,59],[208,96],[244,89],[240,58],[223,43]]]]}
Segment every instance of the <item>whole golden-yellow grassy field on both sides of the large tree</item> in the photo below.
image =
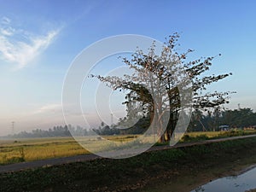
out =
{"type": "MultiPolygon", "coordinates": [[[[255,131],[189,132],[183,136],[183,139],[180,142],[194,142],[211,138],[240,136],[253,133],[255,133],[255,131]]],[[[108,136],[106,138],[122,143],[131,141],[134,137],[137,136],[108,136]]],[[[98,148],[100,142],[101,141],[96,141],[94,148],[98,148]]],[[[81,147],[73,137],[48,137],[0,141],[1,165],[89,153],[90,152],[81,147]]]]}

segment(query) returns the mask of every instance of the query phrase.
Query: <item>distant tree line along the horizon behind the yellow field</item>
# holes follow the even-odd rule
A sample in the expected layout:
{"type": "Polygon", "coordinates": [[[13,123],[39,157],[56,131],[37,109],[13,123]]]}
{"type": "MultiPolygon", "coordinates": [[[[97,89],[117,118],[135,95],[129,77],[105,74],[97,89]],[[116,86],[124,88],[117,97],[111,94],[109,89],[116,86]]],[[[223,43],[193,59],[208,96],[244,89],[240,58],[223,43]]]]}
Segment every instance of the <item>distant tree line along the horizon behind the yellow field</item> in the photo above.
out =
{"type": "MultiPolygon", "coordinates": [[[[8,135],[5,138],[32,138],[32,137],[71,137],[89,136],[93,131],[98,135],[127,135],[143,134],[150,125],[149,117],[142,117],[135,125],[124,129],[127,118],[119,119],[116,125],[102,124],[97,129],[86,130],[81,126],[76,128],[72,125],[59,125],[49,128],[49,130],[35,129],[32,131],[21,131],[19,133],[8,135]],[[72,132],[72,134],[71,134],[72,132]]],[[[229,125],[230,128],[253,128],[256,129],[256,113],[251,108],[239,108],[234,110],[213,111],[212,113],[203,113],[195,110],[189,123],[188,131],[219,131],[220,125],[229,125]]],[[[2,137],[4,138],[4,137],[2,137]]]]}

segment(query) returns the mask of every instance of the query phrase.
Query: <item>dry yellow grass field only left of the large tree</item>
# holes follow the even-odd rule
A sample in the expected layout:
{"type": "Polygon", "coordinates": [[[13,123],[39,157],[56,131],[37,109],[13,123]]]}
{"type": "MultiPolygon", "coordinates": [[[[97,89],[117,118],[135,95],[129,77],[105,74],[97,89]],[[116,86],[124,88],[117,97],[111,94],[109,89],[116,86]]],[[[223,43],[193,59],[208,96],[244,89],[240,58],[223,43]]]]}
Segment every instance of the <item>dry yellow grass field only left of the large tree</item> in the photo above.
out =
{"type": "MultiPolygon", "coordinates": [[[[108,136],[105,138],[116,142],[127,142],[131,141],[134,137],[137,136],[108,136]]],[[[101,141],[94,141],[93,148],[100,147],[102,147],[101,141]]],[[[89,153],[90,152],[77,143],[73,137],[49,137],[0,141],[0,164],[44,160],[89,153]]]]}

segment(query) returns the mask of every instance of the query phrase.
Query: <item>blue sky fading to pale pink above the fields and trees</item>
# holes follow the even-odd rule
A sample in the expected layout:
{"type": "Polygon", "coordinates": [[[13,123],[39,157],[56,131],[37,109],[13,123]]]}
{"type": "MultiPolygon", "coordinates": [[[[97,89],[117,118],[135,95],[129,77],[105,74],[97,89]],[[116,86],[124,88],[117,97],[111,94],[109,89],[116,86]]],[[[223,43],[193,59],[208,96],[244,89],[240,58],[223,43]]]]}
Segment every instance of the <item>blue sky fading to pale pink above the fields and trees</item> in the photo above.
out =
{"type": "MultiPolygon", "coordinates": [[[[233,73],[210,90],[236,91],[227,108],[256,110],[255,1],[3,1],[0,0],[0,135],[64,125],[61,93],[67,71],[90,44],[121,34],[164,41],[181,35],[193,58],[222,55],[209,73],[233,73]]],[[[109,60],[98,72],[109,73],[109,60]]],[[[117,67],[114,65],[114,67],[117,67]]],[[[90,96],[92,87],[84,87],[90,96]]],[[[125,110],[113,94],[113,110],[125,110]]],[[[84,114],[96,120],[92,103],[84,114]]],[[[87,106],[87,107],[86,107],[87,106]]],[[[118,118],[118,113],[115,115],[118,118]]],[[[109,118],[105,118],[108,119],[109,118]]]]}

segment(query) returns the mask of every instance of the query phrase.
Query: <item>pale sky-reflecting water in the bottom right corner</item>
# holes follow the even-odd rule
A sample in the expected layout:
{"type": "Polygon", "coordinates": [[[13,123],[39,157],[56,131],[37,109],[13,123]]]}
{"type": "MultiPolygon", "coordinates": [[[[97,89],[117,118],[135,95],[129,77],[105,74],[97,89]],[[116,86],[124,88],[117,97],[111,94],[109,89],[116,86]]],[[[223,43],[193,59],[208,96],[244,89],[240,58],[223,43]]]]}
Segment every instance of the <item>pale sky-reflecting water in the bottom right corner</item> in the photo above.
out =
{"type": "Polygon", "coordinates": [[[191,192],[244,192],[249,189],[256,189],[256,167],[239,176],[218,178],[191,192]]]}

